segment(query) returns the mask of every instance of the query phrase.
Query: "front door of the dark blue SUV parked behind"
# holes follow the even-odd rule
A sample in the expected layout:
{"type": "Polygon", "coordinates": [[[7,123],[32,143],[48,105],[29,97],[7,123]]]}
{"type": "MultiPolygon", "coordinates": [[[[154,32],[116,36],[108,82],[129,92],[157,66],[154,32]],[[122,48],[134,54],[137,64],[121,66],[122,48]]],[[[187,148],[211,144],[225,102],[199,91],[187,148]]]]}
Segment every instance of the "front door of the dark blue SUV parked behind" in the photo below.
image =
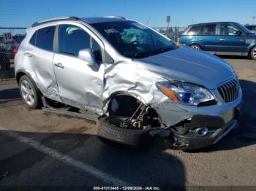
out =
{"type": "Polygon", "coordinates": [[[246,34],[244,34],[234,23],[219,23],[219,55],[241,55],[246,52],[246,34]],[[235,34],[240,31],[241,34],[235,34]]]}

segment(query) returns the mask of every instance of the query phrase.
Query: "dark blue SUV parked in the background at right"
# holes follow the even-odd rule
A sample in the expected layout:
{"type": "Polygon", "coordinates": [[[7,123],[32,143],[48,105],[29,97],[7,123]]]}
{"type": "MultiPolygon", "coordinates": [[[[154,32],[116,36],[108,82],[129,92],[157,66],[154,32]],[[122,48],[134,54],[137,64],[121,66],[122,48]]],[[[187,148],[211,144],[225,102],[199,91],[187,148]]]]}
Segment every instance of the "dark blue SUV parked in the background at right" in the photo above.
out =
{"type": "Polygon", "coordinates": [[[191,25],[180,36],[179,43],[217,55],[249,55],[256,60],[256,35],[239,23],[191,25]]]}

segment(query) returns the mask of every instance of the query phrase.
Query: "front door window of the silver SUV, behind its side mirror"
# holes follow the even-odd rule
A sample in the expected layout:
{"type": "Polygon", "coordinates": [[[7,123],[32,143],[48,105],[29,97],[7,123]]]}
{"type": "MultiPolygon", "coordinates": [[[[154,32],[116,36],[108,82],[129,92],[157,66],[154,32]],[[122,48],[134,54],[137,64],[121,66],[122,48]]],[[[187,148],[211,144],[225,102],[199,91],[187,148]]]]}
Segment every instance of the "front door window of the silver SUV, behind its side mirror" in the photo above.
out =
{"type": "Polygon", "coordinates": [[[101,48],[82,28],[71,25],[59,26],[59,52],[78,56],[82,49],[91,48],[96,61],[102,61],[101,48]]]}

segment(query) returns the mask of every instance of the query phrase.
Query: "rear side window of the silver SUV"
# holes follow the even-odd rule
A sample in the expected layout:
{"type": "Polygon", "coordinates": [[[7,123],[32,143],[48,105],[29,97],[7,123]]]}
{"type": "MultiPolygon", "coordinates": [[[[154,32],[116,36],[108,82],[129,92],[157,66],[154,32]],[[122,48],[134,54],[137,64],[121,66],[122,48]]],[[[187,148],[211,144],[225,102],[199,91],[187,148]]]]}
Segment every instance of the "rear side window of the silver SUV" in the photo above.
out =
{"type": "Polygon", "coordinates": [[[41,28],[37,31],[36,47],[53,51],[53,37],[55,26],[41,28]]]}

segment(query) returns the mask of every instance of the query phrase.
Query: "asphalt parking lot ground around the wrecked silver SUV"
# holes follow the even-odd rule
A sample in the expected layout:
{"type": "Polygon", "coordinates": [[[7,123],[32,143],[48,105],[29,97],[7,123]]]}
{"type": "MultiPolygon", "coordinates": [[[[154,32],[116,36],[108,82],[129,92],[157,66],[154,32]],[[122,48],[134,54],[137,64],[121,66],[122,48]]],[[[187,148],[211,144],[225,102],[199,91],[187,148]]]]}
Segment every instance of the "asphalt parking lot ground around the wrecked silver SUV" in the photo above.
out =
{"type": "Polygon", "coordinates": [[[94,122],[31,110],[15,80],[0,82],[0,186],[255,186],[256,62],[225,58],[240,77],[246,107],[239,127],[206,149],[102,143],[94,122]]]}

